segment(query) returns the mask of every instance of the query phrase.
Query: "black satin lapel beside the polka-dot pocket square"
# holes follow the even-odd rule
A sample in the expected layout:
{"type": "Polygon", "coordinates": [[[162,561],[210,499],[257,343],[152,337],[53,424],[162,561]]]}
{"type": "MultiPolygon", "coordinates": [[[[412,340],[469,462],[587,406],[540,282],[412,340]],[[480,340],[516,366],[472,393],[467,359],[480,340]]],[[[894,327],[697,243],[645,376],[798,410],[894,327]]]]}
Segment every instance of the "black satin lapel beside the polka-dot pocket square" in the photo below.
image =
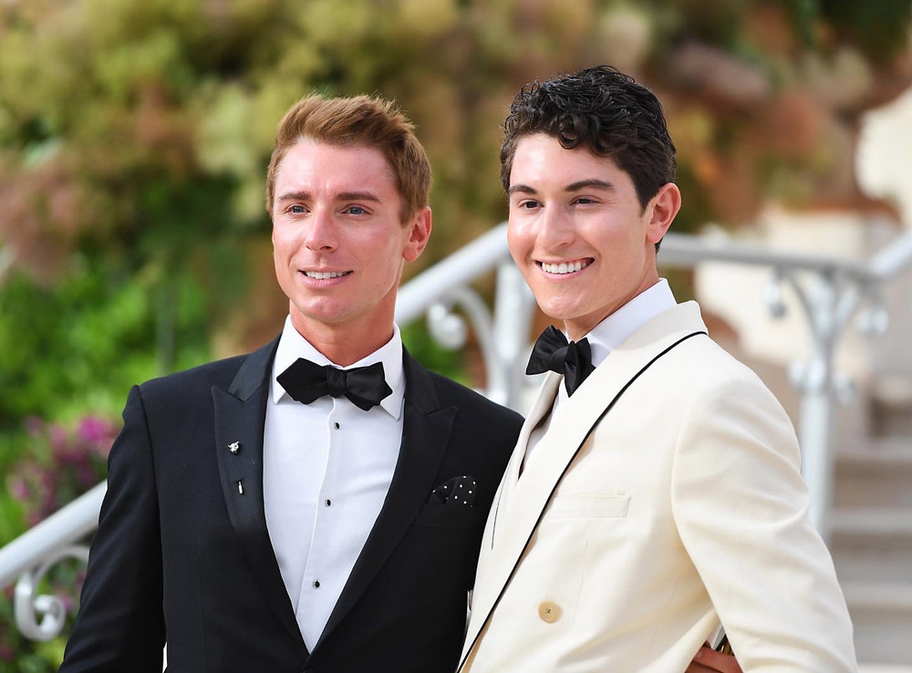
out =
{"type": "Polygon", "coordinates": [[[450,443],[457,409],[440,409],[437,392],[427,370],[421,368],[408,351],[403,352],[402,359],[406,390],[399,461],[377,522],[316,647],[358,603],[415,520],[421,505],[427,502],[430,492],[437,485],[433,482],[434,477],[450,443]]]}

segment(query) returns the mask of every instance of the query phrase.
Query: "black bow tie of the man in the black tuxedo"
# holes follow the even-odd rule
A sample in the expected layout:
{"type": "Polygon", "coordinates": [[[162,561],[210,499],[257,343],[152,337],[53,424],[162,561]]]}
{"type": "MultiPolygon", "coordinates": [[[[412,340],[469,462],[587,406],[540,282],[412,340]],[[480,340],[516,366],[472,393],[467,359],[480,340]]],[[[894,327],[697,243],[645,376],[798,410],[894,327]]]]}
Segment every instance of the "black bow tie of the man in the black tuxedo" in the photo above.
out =
{"type": "Polygon", "coordinates": [[[304,357],[298,357],[275,380],[293,399],[304,404],[310,404],[326,395],[334,398],[345,395],[356,407],[367,411],[392,394],[392,389],[383,378],[382,362],[375,362],[368,367],[339,369],[331,365],[321,367],[304,357]]]}

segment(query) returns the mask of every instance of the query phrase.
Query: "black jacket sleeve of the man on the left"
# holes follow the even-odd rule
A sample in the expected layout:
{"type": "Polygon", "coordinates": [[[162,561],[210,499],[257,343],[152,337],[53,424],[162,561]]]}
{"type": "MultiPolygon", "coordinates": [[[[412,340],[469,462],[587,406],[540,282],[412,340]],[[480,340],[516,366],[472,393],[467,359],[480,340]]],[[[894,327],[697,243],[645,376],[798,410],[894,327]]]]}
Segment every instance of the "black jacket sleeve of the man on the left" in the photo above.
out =
{"type": "Polygon", "coordinates": [[[123,419],[61,673],[161,673],[161,534],[140,388],[130,390],[123,419]]]}

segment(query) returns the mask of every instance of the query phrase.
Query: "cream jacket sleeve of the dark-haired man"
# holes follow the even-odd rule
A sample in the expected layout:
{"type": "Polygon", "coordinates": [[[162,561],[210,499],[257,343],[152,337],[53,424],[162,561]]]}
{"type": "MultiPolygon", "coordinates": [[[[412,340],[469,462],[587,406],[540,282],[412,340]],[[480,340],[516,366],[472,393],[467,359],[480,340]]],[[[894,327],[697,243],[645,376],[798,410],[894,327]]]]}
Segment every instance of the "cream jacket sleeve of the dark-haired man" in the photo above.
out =
{"type": "Polygon", "coordinates": [[[690,399],[672,512],[744,671],[855,671],[833,561],[808,516],[792,424],[747,372],[690,399]]]}

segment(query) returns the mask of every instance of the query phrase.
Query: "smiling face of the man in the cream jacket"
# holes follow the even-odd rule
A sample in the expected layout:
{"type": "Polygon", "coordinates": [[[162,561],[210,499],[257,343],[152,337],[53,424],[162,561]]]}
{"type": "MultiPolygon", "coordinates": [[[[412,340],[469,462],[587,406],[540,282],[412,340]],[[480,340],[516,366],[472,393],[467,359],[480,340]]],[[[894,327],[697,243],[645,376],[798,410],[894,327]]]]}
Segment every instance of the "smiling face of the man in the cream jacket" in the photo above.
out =
{"type": "Polygon", "coordinates": [[[537,133],[516,146],[508,193],[513,260],[572,339],[658,282],[655,243],[680,207],[673,183],[643,208],[613,160],[537,133]]]}

